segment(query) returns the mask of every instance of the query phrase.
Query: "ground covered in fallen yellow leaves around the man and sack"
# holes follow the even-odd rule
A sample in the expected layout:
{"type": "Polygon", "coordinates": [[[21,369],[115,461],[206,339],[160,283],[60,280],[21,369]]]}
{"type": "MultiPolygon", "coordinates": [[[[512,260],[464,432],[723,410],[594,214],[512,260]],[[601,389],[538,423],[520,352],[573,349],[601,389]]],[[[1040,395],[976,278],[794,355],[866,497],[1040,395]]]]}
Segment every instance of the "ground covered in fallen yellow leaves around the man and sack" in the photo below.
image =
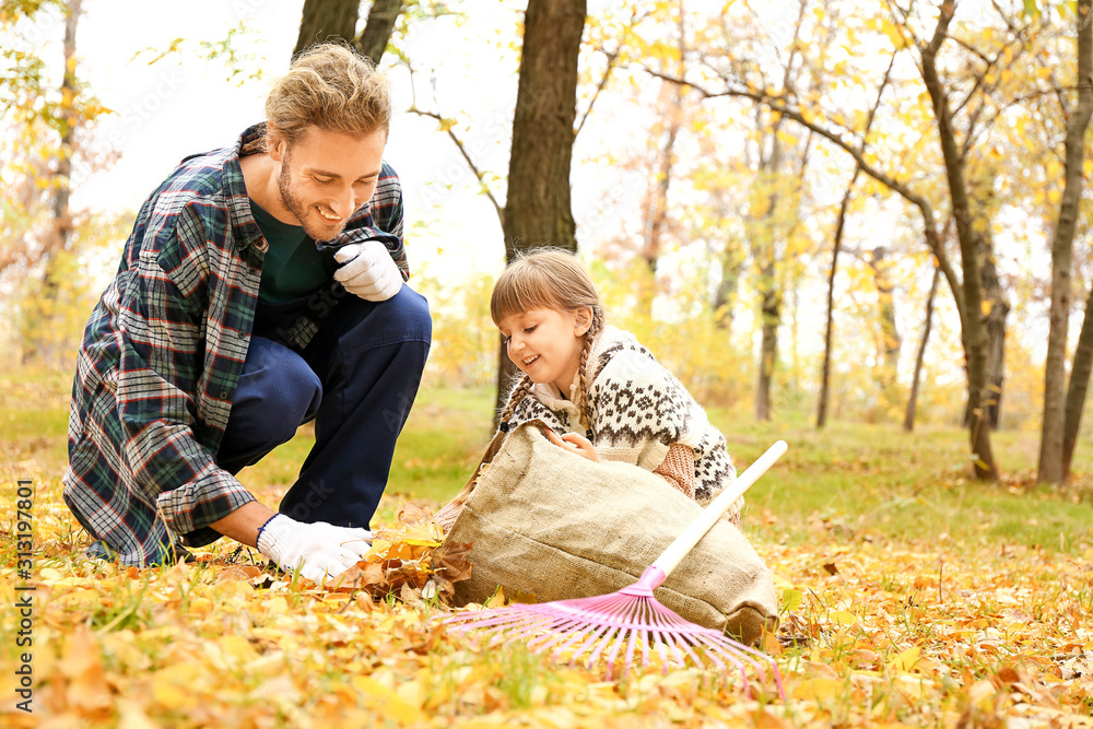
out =
{"type": "MultiPolygon", "coordinates": [[[[226,540],[200,551],[199,562],[163,568],[87,560],[60,498],[57,434],[9,439],[0,443],[0,725],[1093,727],[1088,497],[932,484],[925,501],[937,518],[913,531],[872,528],[896,515],[892,504],[914,514],[924,501],[907,494],[926,486],[901,485],[908,462],[953,470],[905,447],[890,465],[873,456],[820,462],[809,437],[791,440],[801,444],[797,460],[791,451],[781,473],[765,477],[767,491],[753,489],[743,521],[779,588],[781,628],[766,649],[785,699],[689,670],[612,682],[551,666],[520,645],[486,650],[453,636],[436,619],[449,612],[451,583],[473,550],[440,548],[426,518],[439,502],[427,497],[386,496],[372,553],[334,587],[283,579],[226,540]],[[860,486],[859,501],[880,504],[868,519],[831,508],[790,513],[809,498],[808,482],[836,475],[860,486]],[[17,571],[17,478],[34,484],[28,576],[17,571]],[[789,501],[772,501],[798,481],[789,501]],[[947,494],[955,506],[942,515],[947,494]],[[1059,546],[992,536],[1011,518],[991,516],[1003,503],[1026,505],[1014,524],[1050,528],[1059,546]],[[17,605],[27,595],[23,637],[32,643],[20,645],[26,623],[17,605]],[[33,713],[19,708],[24,666],[33,713]]],[[[838,448],[844,457],[847,449],[838,448]]],[[[258,495],[275,503],[283,489],[258,495]]]]}

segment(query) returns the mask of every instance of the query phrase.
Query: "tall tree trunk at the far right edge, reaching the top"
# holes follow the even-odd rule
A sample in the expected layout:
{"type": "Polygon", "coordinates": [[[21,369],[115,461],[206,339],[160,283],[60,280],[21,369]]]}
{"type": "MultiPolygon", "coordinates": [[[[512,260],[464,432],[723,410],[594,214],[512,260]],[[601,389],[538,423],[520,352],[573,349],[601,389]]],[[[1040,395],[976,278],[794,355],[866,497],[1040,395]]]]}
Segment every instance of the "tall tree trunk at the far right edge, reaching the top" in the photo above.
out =
{"type": "MultiPolygon", "coordinates": [[[[1085,158],[1085,129],[1093,116],[1093,0],[1078,3],[1078,110],[1067,124],[1066,173],[1059,220],[1055,225],[1051,242],[1051,308],[1047,334],[1047,364],[1044,372],[1044,422],[1039,437],[1039,466],[1036,480],[1046,483],[1063,483],[1070,475],[1070,460],[1078,439],[1078,424],[1085,403],[1084,387],[1077,412],[1073,415],[1073,437],[1066,437],[1071,420],[1069,398],[1063,399],[1066,380],[1067,327],[1070,322],[1070,257],[1078,224],[1078,205],[1082,197],[1082,164],[1085,158]],[[1065,445],[1066,444],[1066,445],[1065,445]]],[[[1082,321],[1082,337],[1090,321],[1086,305],[1082,321]]],[[[1079,340],[1081,349],[1081,340],[1079,340]]],[[[1086,348],[1088,349],[1088,348],[1086,348]]],[[[1078,378],[1078,357],[1074,353],[1074,368],[1071,387],[1078,378]]],[[[1083,355],[1088,358],[1088,354],[1083,355]]],[[[1089,367],[1083,366],[1089,380],[1089,367]]]]}

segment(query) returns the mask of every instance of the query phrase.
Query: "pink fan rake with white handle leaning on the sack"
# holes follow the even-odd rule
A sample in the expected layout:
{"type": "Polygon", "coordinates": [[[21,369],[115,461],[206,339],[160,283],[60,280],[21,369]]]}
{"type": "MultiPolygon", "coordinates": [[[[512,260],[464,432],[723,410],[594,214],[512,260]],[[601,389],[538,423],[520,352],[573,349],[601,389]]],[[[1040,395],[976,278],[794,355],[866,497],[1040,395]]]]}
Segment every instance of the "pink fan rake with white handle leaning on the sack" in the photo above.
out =
{"type": "Polygon", "coordinates": [[[526,640],[536,652],[553,650],[552,659],[571,656],[569,665],[583,655],[591,668],[601,658],[607,661],[608,680],[622,654],[620,678],[626,674],[638,651],[642,667],[650,655],[659,657],[663,672],[669,666],[683,667],[687,661],[704,671],[721,677],[739,671],[743,689],[748,689],[749,671],[765,681],[766,668],[774,675],[778,694],[785,698],[781,674],[773,658],[715,631],[687,622],[660,604],[654,591],[694,549],[694,545],[717,522],[771,466],[786,452],[785,440],[763,454],[741,473],[731,486],[721,492],[668,549],[646,567],[642,578],[618,592],[576,600],[559,600],[540,604],[509,604],[503,608],[468,611],[445,619],[457,634],[482,631],[491,636],[490,645],[505,640],[526,640]],[[625,648],[625,652],[623,649],[625,648]]]}

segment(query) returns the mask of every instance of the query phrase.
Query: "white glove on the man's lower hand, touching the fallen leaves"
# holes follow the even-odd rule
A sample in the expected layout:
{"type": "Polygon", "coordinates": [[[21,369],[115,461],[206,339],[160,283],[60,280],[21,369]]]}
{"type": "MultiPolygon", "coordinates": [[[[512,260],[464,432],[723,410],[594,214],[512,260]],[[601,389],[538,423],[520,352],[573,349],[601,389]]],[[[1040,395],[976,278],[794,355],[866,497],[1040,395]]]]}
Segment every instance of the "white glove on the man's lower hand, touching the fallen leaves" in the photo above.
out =
{"type": "Polygon", "coordinates": [[[372,548],[367,529],[336,527],[326,521],[304,524],[278,514],[258,531],[258,551],[313,581],[336,577],[361,561],[372,548]]]}

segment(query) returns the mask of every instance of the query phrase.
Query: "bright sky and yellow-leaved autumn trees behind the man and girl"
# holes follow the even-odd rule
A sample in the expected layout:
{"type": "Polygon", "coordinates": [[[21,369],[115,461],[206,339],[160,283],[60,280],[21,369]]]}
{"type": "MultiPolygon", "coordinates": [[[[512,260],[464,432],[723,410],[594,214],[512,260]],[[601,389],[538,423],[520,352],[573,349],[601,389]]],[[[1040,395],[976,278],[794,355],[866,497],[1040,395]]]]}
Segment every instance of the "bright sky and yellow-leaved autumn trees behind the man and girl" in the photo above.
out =
{"type": "MultiPolygon", "coordinates": [[[[71,368],[143,197],[262,117],[298,38],[337,35],[316,13],[352,8],[343,35],[367,25],[367,8],[312,2],[318,25],[302,27],[297,4],[207,3],[165,23],[116,0],[4,3],[5,368],[71,368]]],[[[578,250],[615,322],[703,402],[820,426],[966,425],[988,479],[989,432],[1015,430],[1041,438],[1029,468],[1062,482],[1093,271],[1090,162],[1068,166],[1066,144],[1088,116],[1077,5],[942,7],[592,2],[572,51],[560,26],[531,42],[556,51],[538,97],[572,56],[573,139],[532,130],[530,169],[509,179],[530,128],[525,5],[393,3],[373,55],[396,81],[387,156],[436,320],[430,376],[496,381],[490,285],[517,249],[550,243],[578,250]],[[557,220],[505,226],[537,176],[566,188],[531,203],[557,220]]]]}

